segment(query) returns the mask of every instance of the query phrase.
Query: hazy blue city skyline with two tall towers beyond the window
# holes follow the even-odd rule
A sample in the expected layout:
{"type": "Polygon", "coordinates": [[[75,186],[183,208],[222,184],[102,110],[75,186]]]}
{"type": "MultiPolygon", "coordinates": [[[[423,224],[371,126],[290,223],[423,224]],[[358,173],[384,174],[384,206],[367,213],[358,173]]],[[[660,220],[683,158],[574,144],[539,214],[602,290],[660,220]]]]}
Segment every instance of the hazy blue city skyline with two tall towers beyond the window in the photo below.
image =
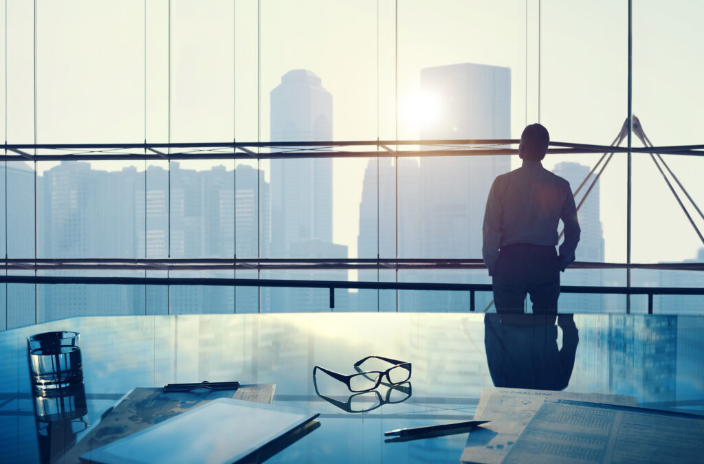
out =
{"type": "MultiPolygon", "coordinates": [[[[420,70],[420,77],[420,94],[414,111],[427,113],[427,118],[418,121],[422,139],[510,137],[512,98],[509,68],[454,63],[424,68],[420,70]]],[[[270,139],[334,139],[332,102],[332,94],[327,92],[320,77],[312,71],[296,69],[284,73],[279,85],[271,91],[270,139]]],[[[186,161],[182,163],[187,166],[185,169],[177,162],[161,162],[144,163],[142,170],[131,163],[119,163],[121,170],[93,169],[94,166],[117,163],[43,163],[46,169],[37,170],[37,256],[119,258],[141,256],[144,249],[146,257],[172,258],[235,255],[384,258],[397,256],[397,253],[401,258],[477,258],[481,254],[481,231],[479,227],[472,226],[482,222],[484,201],[491,181],[496,175],[517,167],[515,162],[515,156],[401,158],[396,173],[391,158],[371,158],[366,161],[360,187],[346,185],[347,188],[359,189],[360,192],[357,208],[352,211],[336,207],[339,205],[340,192],[334,184],[334,170],[341,163],[358,166],[365,163],[364,159],[284,159],[265,160],[260,164],[236,160],[208,163],[186,161]],[[78,178],[81,179],[80,182],[77,182],[78,178]],[[234,192],[231,183],[239,185],[237,192],[234,192]],[[246,188],[242,189],[244,185],[246,188]],[[125,192],[119,195],[109,192],[111,188],[118,187],[125,188],[125,192]],[[84,192],[82,196],[78,189],[84,192]],[[95,192],[88,193],[90,189],[95,192]],[[133,206],[133,213],[127,211],[128,208],[120,207],[125,201],[133,206]],[[65,217],[59,218],[58,211],[62,211],[62,208],[65,217]],[[50,210],[54,211],[53,215],[47,213],[50,210]],[[398,232],[394,219],[397,212],[398,232]],[[107,216],[111,213],[116,213],[111,216],[111,220],[117,218],[122,228],[108,227],[110,222],[107,216]],[[341,215],[354,218],[356,213],[359,218],[356,230],[346,228],[346,234],[354,234],[355,240],[335,242],[335,237],[340,237],[339,221],[335,218],[341,215]],[[91,225],[93,222],[98,227],[98,232],[88,232],[94,227],[91,225]],[[141,224],[144,225],[144,230],[140,230],[141,224]],[[111,248],[106,244],[120,245],[111,248]]],[[[27,175],[34,175],[34,170],[25,163],[13,165],[27,175]]],[[[589,166],[573,161],[561,161],[552,167],[555,173],[570,181],[573,190],[589,174],[589,166]]],[[[546,168],[550,168],[549,163],[546,163],[546,168]]],[[[28,196],[32,196],[29,182],[27,179],[23,186],[27,190],[27,195],[23,196],[25,201],[28,196]]],[[[582,190],[582,197],[585,190],[582,190]]],[[[600,192],[601,184],[597,183],[590,193],[589,201],[584,203],[584,208],[579,213],[584,234],[577,250],[577,261],[605,260],[600,192]]],[[[27,222],[27,218],[24,222],[27,222]]],[[[23,225],[27,230],[33,226],[23,225]]],[[[8,246],[13,246],[11,241],[8,246]]],[[[32,255],[31,244],[23,244],[23,249],[30,252],[27,256],[32,255]]],[[[562,284],[622,285],[622,274],[623,272],[613,270],[572,270],[563,277],[562,284]]],[[[231,277],[227,271],[208,272],[208,275],[231,277]]],[[[235,277],[257,275],[256,272],[239,271],[235,277]]],[[[261,277],[302,280],[396,279],[393,272],[383,270],[269,271],[263,272],[261,277]]],[[[406,282],[489,281],[483,271],[403,271],[398,277],[406,282]]],[[[673,286],[698,284],[696,277],[686,272],[658,272],[657,276],[651,272],[636,278],[634,284],[637,282],[667,282],[673,286]]],[[[58,301],[54,303],[58,313],[64,311],[60,309],[60,303],[65,301],[65,311],[72,313],[69,302],[82,298],[85,300],[82,307],[87,310],[92,304],[89,303],[88,296],[80,296],[81,291],[87,292],[87,289],[50,290],[45,294],[45,299],[54,298],[58,301]],[[63,294],[63,297],[56,298],[52,292],[63,294]]],[[[215,312],[238,307],[244,311],[252,311],[254,308],[263,311],[328,309],[328,296],[322,290],[174,291],[177,297],[174,300],[176,311],[179,311],[179,305],[182,305],[182,311],[188,312],[190,310],[187,308],[199,304],[217,308],[210,310],[215,312]]],[[[395,298],[391,298],[389,292],[337,293],[338,311],[368,311],[369,308],[381,311],[382,308],[389,309],[397,305],[406,311],[428,310],[431,307],[434,310],[452,311],[469,306],[467,295],[452,292],[402,292],[398,303],[395,298]]],[[[127,296],[121,298],[125,297],[127,296]]],[[[168,296],[163,292],[152,291],[144,303],[138,301],[139,297],[129,298],[134,300],[132,305],[138,311],[139,306],[160,306],[168,296]]],[[[670,297],[667,300],[677,300],[676,303],[689,308],[692,299],[679,298],[670,297]]],[[[485,306],[489,301],[488,294],[479,294],[479,306],[485,306]]],[[[663,305],[662,301],[665,299],[660,299],[658,307],[663,305]]],[[[620,299],[604,296],[583,298],[567,295],[562,297],[561,302],[562,308],[569,311],[591,312],[601,308],[611,312],[619,311],[622,306],[620,299]]]]}

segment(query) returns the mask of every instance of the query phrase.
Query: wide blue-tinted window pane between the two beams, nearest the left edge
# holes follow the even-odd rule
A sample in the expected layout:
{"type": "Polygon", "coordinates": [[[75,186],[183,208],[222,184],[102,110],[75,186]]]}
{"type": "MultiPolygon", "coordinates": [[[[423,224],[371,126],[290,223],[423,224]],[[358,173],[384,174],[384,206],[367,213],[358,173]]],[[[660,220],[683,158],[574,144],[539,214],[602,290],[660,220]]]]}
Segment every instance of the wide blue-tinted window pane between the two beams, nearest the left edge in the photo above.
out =
{"type": "Polygon", "coordinates": [[[120,161],[37,163],[42,258],[134,258],[144,231],[144,171],[120,161]],[[51,163],[54,164],[54,163],[51,163]]]}

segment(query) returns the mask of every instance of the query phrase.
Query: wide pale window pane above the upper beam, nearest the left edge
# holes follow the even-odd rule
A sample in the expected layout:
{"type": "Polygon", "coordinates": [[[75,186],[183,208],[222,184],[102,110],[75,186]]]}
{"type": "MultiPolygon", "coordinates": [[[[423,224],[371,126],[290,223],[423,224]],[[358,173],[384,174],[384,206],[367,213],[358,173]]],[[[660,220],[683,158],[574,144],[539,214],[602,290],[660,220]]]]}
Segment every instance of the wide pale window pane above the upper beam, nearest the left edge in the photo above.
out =
{"type": "Polygon", "coordinates": [[[37,142],[142,141],[144,3],[36,5],[37,142]]]}

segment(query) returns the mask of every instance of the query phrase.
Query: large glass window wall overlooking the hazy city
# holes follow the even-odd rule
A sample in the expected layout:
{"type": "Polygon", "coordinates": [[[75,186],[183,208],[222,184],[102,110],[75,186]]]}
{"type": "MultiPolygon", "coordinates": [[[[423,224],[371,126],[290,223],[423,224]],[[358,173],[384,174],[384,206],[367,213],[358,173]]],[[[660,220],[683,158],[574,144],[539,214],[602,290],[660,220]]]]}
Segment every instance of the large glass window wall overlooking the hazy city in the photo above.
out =
{"type": "MultiPolygon", "coordinates": [[[[631,56],[628,8],[607,0],[2,0],[0,130],[9,145],[34,146],[24,151],[29,159],[8,151],[0,163],[0,249],[8,259],[252,263],[237,270],[194,264],[6,272],[488,284],[483,269],[346,265],[481,258],[491,181],[520,166],[515,155],[422,156],[453,145],[393,142],[517,139],[524,125],[541,122],[555,142],[608,146],[630,102],[655,146],[700,144],[704,65],[695,57],[704,7],[635,3],[631,56]],[[335,146],[346,141],[370,143],[335,146]],[[247,159],[228,158],[227,146],[189,149],[190,159],[169,160],[171,149],[119,146],[87,161],[32,159],[86,151],[37,144],[201,142],[255,147],[237,151],[247,159]],[[296,149],[349,156],[258,158],[285,142],[331,142],[296,149]],[[389,156],[399,150],[419,156],[389,156]],[[339,262],[258,268],[272,259],[339,262]]],[[[636,133],[631,143],[642,146],[636,133]]],[[[516,147],[484,148],[492,146],[516,147]]],[[[704,218],[693,204],[704,201],[700,156],[663,155],[658,165],[648,153],[631,159],[630,236],[627,153],[549,154],[544,161],[579,189],[577,261],[704,263],[695,230],[704,230],[704,218]]],[[[623,267],[574,268],[562,284],[704,287],[704,277],[696,270],[632,270],[629,277],[623,267]]],[[[451,291],[338,289],[334,299],[334,311],[470,307],[469,293],[451,291]]],[[[574,312],[623,312],[626,301],[560,299],[561,310],[574,312]]],[[[702,301],[655,296],[654,308],[698,311],[702,301]]],[[[82,314],[330,311],[329,303],[327,289],[11,283],[0,285],[0,327],[82,314]]],[[[476,294],[477,311],[493,311],[491,303],[490,292],[476,294]]],[[[646,296],[631,299],[632,311],[646,305],[646,296]]]]}

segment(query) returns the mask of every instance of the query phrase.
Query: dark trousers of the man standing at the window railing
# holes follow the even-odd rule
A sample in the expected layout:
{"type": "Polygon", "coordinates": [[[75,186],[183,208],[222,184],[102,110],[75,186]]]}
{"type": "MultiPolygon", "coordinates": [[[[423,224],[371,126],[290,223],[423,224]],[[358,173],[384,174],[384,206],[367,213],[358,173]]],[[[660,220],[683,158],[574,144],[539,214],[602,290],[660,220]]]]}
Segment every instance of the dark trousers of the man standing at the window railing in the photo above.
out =
{"type": "Polygon", "coordinates": [[[560,296],[560,261],[554,246],[510,244],[498,253],[494,269],[497,313],[523,313],[530,294],[533,313],[556,313],[560,296]]]}

